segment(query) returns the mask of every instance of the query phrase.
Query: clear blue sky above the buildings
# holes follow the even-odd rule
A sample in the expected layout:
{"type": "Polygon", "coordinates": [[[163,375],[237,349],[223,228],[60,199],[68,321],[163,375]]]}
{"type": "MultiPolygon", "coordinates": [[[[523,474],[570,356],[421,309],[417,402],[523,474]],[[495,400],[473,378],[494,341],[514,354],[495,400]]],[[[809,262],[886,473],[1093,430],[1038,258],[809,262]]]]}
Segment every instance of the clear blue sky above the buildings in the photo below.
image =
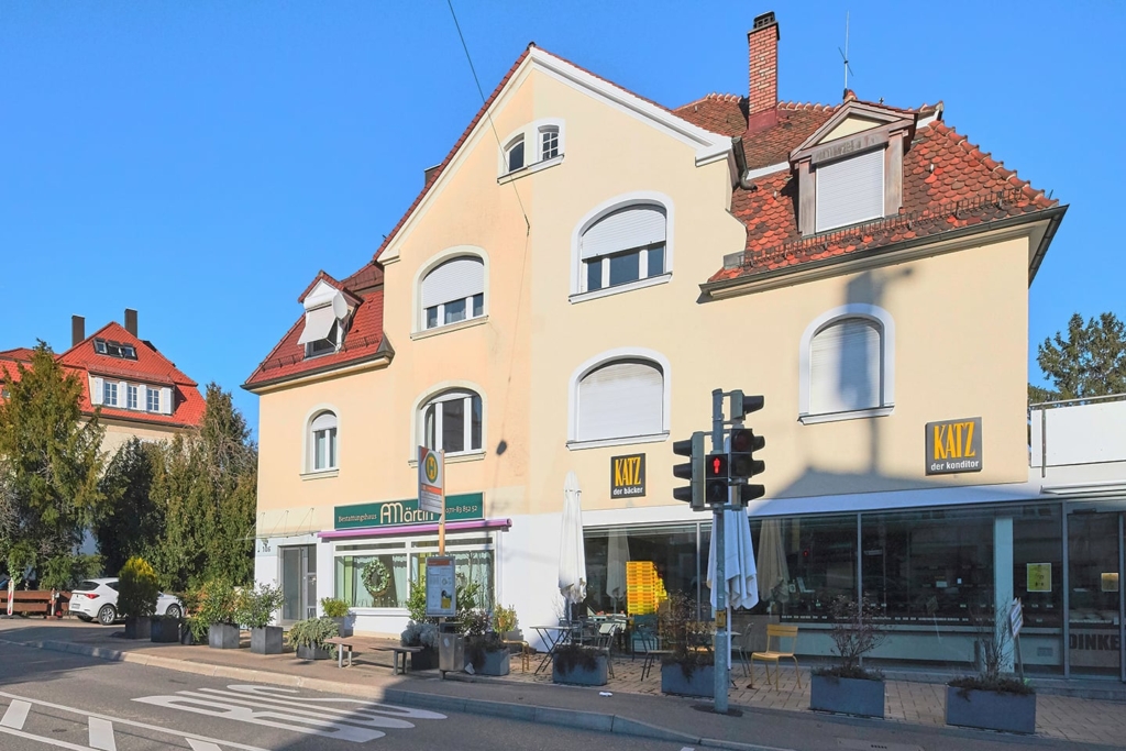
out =
{"type": "MultiPolygon", "coordinates": [[[[455,1],[485,91],[537,45],[677,106],[747,89],[775,10],[783,99],[852,88],[946,119],[1071,204],[1030,290],[1035,345],[1126,316],[1114,138],[1126,3],[455,1]],[[1112,143],[1112,142],[1111,142],[1112,143]],[[1108,144],[1109,145],[1109,144],[1108,144]]],[[[445,0],[0,3],[0,349],[140,311],[200,383],[239,388],[325,269],[359,268],[481,106],[445,0]]]]}

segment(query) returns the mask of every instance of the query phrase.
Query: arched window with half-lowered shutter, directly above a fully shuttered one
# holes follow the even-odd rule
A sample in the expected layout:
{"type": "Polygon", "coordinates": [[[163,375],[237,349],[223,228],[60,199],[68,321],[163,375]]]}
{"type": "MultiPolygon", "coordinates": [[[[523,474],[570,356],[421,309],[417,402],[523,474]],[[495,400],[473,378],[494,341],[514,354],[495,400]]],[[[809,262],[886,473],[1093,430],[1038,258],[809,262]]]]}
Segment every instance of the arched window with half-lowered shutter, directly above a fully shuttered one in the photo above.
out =
{"type": "Polygon", "coordinates": [[[595,292],[658,277],[668,268],[668,214],[660,204],[615,208],[579,238],[579,292],[595,292]]]}

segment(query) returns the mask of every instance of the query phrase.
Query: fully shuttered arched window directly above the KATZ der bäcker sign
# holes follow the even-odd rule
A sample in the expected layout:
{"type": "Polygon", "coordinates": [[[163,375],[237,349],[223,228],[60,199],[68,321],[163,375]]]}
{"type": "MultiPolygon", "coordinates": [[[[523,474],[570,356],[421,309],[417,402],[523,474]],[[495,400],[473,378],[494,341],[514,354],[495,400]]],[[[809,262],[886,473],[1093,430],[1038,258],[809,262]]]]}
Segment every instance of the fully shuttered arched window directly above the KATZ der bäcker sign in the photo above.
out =
{"type": "Polygon", "coordinates": [[[647,359],[610,360],[587,372],[575,394],[574,440],[664,432],[664,370],[647,359]]]}

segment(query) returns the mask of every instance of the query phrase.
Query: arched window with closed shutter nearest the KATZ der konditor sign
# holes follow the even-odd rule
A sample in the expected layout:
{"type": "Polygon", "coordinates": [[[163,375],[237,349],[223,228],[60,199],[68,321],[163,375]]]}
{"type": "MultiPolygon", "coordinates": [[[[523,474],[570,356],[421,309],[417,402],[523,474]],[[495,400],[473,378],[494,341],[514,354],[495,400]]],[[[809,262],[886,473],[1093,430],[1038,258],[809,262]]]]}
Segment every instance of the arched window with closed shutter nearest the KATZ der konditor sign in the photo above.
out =
{"type": "Polygon", "coordinates": [[[822,316],[803,338],[803,418],[823,421],[887,414],[894,405],[894,324],[873,305],[822,316]]]}

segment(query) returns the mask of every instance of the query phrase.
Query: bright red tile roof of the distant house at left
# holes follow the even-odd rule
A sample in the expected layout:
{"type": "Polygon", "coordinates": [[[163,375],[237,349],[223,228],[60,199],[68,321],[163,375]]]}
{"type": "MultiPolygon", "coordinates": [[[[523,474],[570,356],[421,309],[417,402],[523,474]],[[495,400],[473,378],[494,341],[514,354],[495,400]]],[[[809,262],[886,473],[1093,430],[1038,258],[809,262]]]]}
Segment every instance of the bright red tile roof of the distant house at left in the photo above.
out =
{"type": "MultiPolygon", "coordinates": [[[[0,352],[0,360],[14,363],[18,360],[27,365],[30,363],[32,354],[33,350],[26,347],[10,349],[0,352]]],[[[167,386],[176,395],[176,406],[171,414],[102,406],[102,417],[169,427],[197,427],[203,422],[206,402],[199,394],[198,384],[179,370],[155,347],[134,337],[119,323],[107,323],[56,358],[68,372],[79,376],[79,382],[82,384],[81,409],[84,414],[92,414],[95,411],[90,401],[90,379],[87,376],[96,375],[137,384],[167,386]],[[137,357],[133,360],[99,355],[93,349],[95,339],[132,345],[137,357]]],[[[5,364],[0,363],[0,369],[7,369],[14,378],[18,377],[15,367],[6,368],[5,364]]]]}

